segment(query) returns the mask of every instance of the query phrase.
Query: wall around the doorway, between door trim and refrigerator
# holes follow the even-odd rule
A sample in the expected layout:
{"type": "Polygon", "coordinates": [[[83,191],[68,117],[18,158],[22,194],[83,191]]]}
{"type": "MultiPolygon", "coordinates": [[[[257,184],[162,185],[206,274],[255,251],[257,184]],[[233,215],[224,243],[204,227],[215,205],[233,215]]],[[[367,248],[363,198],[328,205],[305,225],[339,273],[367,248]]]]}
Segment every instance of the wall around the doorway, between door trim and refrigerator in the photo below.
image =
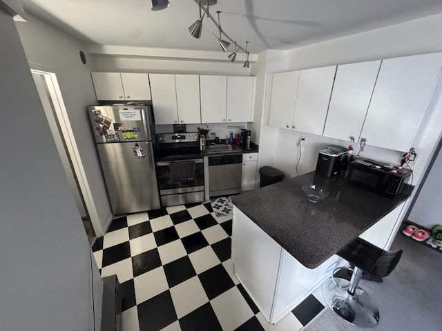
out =
{"type": "MultiPolygon", "coordinates": [[[[84,50],[83,44],[31,14],[27,19],[26,23],[17,22],[26,57],[31,67],[47,68],[57,74],[99,221],[106,230],[112,218],[111,205],[86,112],[86,106],[97,104],[90,77],[90,71],[95,70],[93,57],[86,54],[88,63],[85,66],[79,57],[79,51],[84,50]]],[[[99,234],[99,231],[95,232],[99,234]]]]}

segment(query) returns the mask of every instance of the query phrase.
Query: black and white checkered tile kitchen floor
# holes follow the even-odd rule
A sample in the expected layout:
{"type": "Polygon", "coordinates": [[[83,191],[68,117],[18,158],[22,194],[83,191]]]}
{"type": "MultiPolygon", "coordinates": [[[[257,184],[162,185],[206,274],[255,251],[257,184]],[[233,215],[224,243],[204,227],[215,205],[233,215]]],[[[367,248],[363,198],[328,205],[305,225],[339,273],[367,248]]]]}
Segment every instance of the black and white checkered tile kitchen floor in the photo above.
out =
{"type": "Polygon", "coordinates": [[[311,295],[267,323],[233,274],[231,218],[197,203],[113,220],[93,254],[121,284],[123,331],[300,330],[323,310],[311,295]]]}

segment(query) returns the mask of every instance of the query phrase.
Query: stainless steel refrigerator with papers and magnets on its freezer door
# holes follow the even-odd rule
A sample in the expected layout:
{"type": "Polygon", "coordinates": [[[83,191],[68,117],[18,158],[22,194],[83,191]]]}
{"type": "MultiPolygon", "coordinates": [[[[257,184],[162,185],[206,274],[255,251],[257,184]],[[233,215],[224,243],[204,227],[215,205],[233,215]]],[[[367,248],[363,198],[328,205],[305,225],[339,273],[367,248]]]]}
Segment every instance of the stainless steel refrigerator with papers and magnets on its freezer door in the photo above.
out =
{"type": "Polygon", "coordinates": [[[113,214],[160,208],[151,106],[90,106],[104,181],[113,214]]]}

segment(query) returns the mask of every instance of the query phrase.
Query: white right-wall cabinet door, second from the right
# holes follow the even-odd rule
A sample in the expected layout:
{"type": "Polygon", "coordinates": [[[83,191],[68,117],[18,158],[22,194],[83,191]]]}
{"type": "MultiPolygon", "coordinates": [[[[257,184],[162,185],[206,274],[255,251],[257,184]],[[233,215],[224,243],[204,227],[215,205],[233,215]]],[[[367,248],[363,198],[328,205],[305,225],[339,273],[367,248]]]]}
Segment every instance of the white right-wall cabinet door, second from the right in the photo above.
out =
{"type": "Polygon", "coordinates": [[[356,141],[361,134],[381,60],[338,66],[324,136],[356,141]]]}

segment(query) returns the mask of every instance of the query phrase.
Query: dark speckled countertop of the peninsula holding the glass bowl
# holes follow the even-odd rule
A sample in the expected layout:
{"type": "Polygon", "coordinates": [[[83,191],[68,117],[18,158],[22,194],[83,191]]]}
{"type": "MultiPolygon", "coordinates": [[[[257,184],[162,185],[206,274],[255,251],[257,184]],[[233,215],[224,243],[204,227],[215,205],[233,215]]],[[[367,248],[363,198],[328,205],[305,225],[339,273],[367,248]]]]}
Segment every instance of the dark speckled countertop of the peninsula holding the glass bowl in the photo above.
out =
{"type": "Polygon", "coordinates": [[[389,199],[345,179],[309,172],[232,201],[302,265],[316,268],[410,197],[412,186],[406,188],[389,199]],[[325,186],[329,197],[309,202],[302,185],[311,183],[325,186]]]}

